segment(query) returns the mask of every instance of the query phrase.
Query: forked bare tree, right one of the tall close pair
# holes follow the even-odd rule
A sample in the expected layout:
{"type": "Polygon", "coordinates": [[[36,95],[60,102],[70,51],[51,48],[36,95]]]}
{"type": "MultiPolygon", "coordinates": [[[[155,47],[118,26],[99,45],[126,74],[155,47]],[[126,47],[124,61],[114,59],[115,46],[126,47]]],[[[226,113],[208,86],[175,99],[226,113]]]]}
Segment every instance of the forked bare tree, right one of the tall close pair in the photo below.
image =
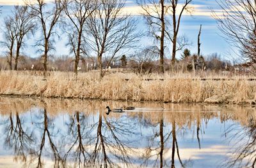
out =
{"type": "Polygon", "coordinates": [[[177,52],[177,42],[178,40],[178,33],[180,29],[180,20],[184,11],[191,13],[191,8],[189,7],[189,3],[192,0],[171,0],[171,9],[172,9],[172,25],[173,25],[173,34],[172,34],[172,66],[174,67],[175,59],[176,59],[176,52],[177,52]],[[182,4],[181,10],[177,13],[178,4],[182,4]],[[178,14],[178,15],[177,15],[178,14]]]}

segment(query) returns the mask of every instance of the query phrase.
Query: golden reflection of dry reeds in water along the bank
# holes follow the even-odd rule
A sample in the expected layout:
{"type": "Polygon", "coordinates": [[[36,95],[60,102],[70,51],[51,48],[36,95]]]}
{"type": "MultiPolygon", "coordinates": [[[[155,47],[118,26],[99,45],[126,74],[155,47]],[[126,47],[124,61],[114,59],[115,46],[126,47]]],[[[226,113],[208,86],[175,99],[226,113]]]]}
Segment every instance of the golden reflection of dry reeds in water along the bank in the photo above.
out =
{"type": "Polygon", "coordinates": [[[108,117],[120,118],[122,115],[138,118],[139,120],[148,120],[157,123],[160,120],[160,113],[163,112],[164,122],[175,122],[179,125],[193,125],[196,121],[209,120],[220,117],[220,122],[225,120],[236,120],[242,125],[248,125],[253,118],[256,122],[256,109],[246,106],[213,106],[201,104],[163,104],[159,102],[120,102],[120,101],[82,101],[80,99],[31,99],[31,98],[10,98],[0,97],[1,115],[10,115],[10,113],[24,113],[31,108],[45,108],[51,116],[59,113],[74,114],[76,111],[83,112],[86,115],[95,115],[99,111],[106,112],[106,106],[120,108],[122,106],[135,106],[134,111],[125,113],[110,113],[108,117]],[[161,110],[163,109],[163,110],[161,110]]]}

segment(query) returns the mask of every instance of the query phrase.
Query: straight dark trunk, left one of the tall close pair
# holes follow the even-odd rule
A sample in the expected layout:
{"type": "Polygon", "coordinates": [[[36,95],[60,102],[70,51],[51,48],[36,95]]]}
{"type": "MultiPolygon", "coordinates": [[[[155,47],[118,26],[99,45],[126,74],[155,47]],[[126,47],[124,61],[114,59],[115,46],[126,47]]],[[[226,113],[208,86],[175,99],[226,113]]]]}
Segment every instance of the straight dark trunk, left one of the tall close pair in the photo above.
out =
{"type": "Polygon", "coordinates": [[[160,44],[160,71],[164,73],[164,0],[161,0],[161,44],[160,44]]]}

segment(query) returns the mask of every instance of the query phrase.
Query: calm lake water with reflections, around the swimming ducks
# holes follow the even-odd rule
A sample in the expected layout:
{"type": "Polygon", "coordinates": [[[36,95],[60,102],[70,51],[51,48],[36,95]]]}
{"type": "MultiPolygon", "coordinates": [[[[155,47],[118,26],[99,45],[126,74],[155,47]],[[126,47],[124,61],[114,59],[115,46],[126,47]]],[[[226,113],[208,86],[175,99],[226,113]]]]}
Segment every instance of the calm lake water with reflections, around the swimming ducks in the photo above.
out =
{"type": "Polygon", "coordinates": [[[0,167],[252,167],[255,121],[250,106],[0,97],[0,167]]]}

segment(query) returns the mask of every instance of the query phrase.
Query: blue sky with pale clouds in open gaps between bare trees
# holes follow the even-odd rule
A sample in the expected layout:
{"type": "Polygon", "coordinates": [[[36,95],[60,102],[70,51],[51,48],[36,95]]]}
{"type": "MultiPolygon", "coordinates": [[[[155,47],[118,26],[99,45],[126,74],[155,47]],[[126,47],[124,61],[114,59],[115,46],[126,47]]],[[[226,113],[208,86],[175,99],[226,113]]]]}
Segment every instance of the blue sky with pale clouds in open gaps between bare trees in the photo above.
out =
{"type": "MultiPolygon", "coordinates": [[[[51,1],[51,0],[47,0],[51,1]]],[[[0,0],[0,6],[2,6],[2,13],[0,15],[0,24],[3,24],[4,17],[11,14],[13,5],[22,4],[22,0],[0,0]]],[[[189,46],[191,53],[197,52],[197,36],[202,24],[202,34],[201,34],[201,51],[202,55],[211,55],[212,53],[218,53],[223,59],[227,57],[230,53],[231,46],[221,37],[221,32],[218,30],[216,21],[211,16],[211,9],[217,11],[217,14],[221,14],[220,8],[215,0],[193,0],[191,6],[194,8],[192,15],[185,13],[182,17],[180,24],[179,35],[185,35],[188,37],[189,41],[193,43],[189,46]]],[[[135,3],[134,0],[127,1],[125,11],[131,13],[132,15],[138,17],[140,15],[140,7],[135,3]]],[[[139,19],[138,27],[140,29],[147,29],[143,18],[139,19]]],[[[27,46],[22,50],[22,52],[30,57],[38,57],[40,53],[36,52],[36,48],[33,45],[38,37],[34,36],[26,41],[27,46]],[[26,52],[26,53],[25,53],[26,52]]],[[[147,38],[146,38],[147,39],[147,38]]],[[[3,40],[2,34],[0,32],[0,41],[3,40]]],[[[152,45],[150,43],[152,40],[141,39],[141,45],[152,45]]],[[[56,42],[56,51],[54,55],[68,55],[68,47],[65,46],[67,43],[67,38],[65,34],[61,34],[61,39],[56,42]]],[[[4,48],[0,48],[0,54],[4,53],[4,48]]],[[[169,57],[166,54],[166,57],[169,57]]],[[[177,53],[180,56],[180,52],[177,53]]]]}

